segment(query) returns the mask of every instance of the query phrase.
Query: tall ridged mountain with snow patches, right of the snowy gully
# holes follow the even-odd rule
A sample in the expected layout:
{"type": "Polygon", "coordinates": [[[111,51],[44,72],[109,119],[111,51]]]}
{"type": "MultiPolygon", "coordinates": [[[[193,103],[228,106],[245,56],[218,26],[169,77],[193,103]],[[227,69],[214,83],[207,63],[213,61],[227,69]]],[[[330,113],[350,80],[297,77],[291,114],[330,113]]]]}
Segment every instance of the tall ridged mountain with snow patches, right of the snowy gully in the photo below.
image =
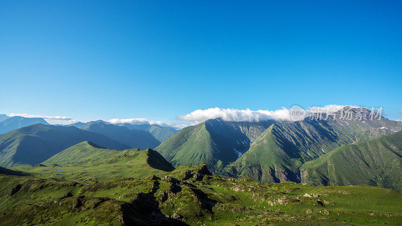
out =
{"type": "Polygon", "coordinates": [[[250,176],[263,182],[300,182],[299,167],[303,163],[337,147],[392,134],[400,129],[402,123],[384,118],[373,121],[307,118],[299,122],[274,124],[222,174],[250,176]]]}

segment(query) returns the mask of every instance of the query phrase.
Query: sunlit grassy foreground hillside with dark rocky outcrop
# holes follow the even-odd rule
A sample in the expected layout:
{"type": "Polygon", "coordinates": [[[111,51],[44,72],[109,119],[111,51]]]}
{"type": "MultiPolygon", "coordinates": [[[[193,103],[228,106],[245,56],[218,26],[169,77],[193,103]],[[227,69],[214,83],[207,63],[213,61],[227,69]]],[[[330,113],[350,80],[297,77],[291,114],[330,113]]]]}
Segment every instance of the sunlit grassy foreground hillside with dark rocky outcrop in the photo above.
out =
{"type": "Polygon", "coordinates": [[[402,223],[402,194],[224,179],[206,166],[83,184],[0,176],[2,224],[312,225],[402,223]]]}

